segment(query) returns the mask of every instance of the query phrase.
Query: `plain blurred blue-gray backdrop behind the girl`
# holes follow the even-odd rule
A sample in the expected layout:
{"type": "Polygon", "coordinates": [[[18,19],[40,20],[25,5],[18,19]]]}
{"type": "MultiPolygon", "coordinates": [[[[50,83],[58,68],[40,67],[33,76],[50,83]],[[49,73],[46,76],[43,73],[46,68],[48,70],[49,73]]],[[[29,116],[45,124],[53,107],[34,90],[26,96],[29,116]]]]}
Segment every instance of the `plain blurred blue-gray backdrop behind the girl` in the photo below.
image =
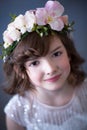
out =
{"type": "MultiPolygon", "coordinates": [[[[47,0],[0,0],[0,42],[2,33],[10,22],[10,14],[24,14],[26,10],[42,7],[47,0]]],[[[75,21],[74,41],[77,50],[86,62],[83,69],[87,72],[87,1],[86,0],[59,0],[65,7],[65,13],[69,15],[69,21],[75,21]]],[[[5,115],[3,108],[9,96],[3,92],[2,83],[4,82],[3,62],[0,61],[0,130],[5,128],[5,115]]]]}

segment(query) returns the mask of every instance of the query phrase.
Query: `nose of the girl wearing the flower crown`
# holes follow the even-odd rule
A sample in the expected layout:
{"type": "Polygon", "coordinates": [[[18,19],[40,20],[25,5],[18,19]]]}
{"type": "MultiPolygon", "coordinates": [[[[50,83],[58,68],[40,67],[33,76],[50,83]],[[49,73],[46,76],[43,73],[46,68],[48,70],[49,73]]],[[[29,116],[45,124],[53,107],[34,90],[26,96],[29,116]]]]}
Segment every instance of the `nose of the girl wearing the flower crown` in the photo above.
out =
{"type": "Polygon", "coordinates": [[[44,67],[45,73],[48,75],[52,75],[57,71],[57,65],[51,59],[45,61],[44,67]]]}

